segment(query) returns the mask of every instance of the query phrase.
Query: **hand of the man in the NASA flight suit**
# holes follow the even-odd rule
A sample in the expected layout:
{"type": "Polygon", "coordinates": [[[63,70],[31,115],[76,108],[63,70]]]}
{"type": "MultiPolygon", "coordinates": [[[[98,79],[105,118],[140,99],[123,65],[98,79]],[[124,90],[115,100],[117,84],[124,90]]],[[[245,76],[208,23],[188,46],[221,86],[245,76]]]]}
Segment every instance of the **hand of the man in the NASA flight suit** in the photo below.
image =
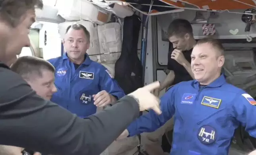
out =
{"type": "Polygon", "coordinates": [[[107,91],[103,90],[93,95],[94,105],[97,107],[103,107],[113,102],[114,96],[110,95],[107,91]]]}

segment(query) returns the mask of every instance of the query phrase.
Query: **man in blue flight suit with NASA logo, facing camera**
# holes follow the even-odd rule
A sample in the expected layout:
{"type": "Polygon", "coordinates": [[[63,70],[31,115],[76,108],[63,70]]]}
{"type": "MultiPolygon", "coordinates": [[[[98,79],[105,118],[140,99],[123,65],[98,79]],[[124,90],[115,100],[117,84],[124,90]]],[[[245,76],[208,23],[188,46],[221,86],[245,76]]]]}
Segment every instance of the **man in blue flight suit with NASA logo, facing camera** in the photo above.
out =
{"type": "Polygon", "coordinates": [[[48,60],[56,68],[52,102],[85,118],[124,96],[111,72],[86,54],[90,34],[83,25],[68,26],[63,45],[64,56],[48,60]]]}

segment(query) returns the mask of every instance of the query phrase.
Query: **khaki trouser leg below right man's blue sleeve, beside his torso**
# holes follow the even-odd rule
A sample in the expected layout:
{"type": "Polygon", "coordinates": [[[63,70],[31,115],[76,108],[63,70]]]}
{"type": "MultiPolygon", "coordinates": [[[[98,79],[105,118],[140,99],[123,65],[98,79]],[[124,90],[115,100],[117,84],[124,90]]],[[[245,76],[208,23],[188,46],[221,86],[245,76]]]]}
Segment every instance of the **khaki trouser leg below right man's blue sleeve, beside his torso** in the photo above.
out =
{"type": "Polygon", "coordinates": [[[145,138],[144,149],[149,155],[164,155],[162,145],[162,136],[165,132],[173,129],[174,121],[171,118],[162,127],[154,132],[144,133],[142,136],[145,138]]]}

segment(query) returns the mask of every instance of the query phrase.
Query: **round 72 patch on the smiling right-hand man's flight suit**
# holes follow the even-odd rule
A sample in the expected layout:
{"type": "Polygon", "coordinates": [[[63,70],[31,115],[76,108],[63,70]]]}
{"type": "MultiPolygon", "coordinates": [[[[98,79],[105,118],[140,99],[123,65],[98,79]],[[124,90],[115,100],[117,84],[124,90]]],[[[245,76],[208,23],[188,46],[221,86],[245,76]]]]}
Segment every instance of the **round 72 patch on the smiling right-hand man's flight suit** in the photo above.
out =
{"type": "Polygon", "coordinates": [[[197,134],[198,140],[200,140],[200,142],[203,144],[212,144],[215,142],[216,136],[216,130],[209,125],[200,127],[197,134]]]}

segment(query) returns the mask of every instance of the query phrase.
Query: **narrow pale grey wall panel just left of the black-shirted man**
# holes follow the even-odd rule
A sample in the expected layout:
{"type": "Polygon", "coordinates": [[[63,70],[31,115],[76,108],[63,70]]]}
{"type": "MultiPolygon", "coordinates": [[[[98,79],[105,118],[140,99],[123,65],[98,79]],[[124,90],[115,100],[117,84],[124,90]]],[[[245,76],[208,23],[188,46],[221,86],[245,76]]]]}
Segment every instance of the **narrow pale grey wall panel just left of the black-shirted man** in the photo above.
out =
{"type": "Polygon", "coordinates": [[[167,65],[168,62],[168,51],[169,51],[169,42],[165,42],[162,40],[162,29],[161,26],[157,22],[157,54],[158,54],[158,63],[161,65],[167,65]]]}

